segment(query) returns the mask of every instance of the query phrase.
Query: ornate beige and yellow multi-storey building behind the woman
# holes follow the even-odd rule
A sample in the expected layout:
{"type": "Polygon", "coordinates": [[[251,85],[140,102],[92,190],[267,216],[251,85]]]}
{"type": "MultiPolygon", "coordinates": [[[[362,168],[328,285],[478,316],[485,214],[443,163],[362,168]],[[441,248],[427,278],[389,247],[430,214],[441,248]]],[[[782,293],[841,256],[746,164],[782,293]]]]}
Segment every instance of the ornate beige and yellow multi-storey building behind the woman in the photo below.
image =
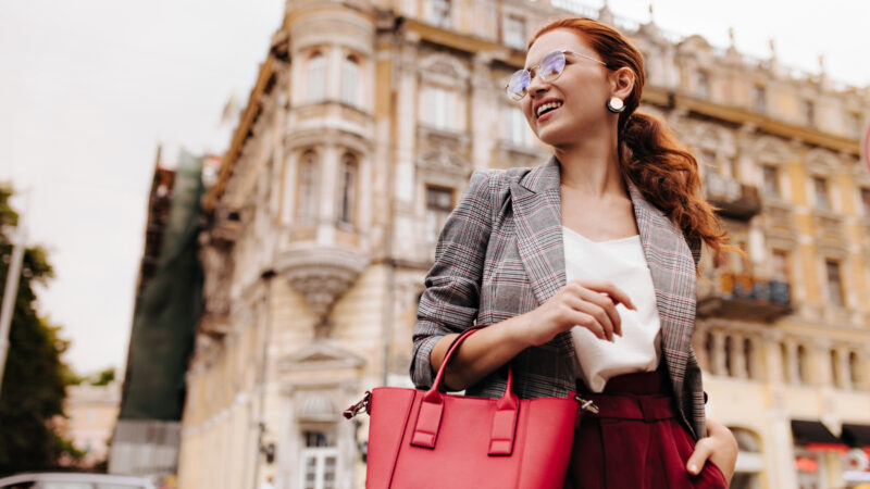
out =
{"type": "Polygon", "coordinates": [[[365,419],[341,410],[410,384],[423,277],[471,172],[547,159],[502,93],[564,13],[643,51],[642,109],[706,163],[747,251],[705,256],[695,338],[708,408],[741,442],[735,487],[862,477],[870,89],[571,0],[289,0],[204,202],[182,487],[363,487],[365,419]]]}

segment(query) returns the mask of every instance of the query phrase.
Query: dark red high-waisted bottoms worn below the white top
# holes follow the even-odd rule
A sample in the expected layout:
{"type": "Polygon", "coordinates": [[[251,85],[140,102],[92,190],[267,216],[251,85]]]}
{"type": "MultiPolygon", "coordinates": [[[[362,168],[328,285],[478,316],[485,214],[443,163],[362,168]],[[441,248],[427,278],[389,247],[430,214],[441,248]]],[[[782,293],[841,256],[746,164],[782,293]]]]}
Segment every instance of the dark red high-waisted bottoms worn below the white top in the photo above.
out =
{"type": "Polygon", "coordinates": [[[589,393],[579,381],[577,392],[599,413],[583,412],[575,428],[566,488],[728,487],[709,460],[697,476],[686,471],[695,440],[679,421],[663,369],[613,377],[602,393],[589,393]]]}

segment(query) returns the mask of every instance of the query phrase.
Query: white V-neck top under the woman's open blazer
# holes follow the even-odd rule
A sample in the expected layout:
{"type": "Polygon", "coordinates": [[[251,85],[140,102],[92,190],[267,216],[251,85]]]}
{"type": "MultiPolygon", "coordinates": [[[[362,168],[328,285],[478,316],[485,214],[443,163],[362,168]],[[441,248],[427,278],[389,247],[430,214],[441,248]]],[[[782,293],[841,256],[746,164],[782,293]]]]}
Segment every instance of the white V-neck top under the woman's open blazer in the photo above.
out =
{"type": "Polygon", "coordinates": [[[601,392],[611,377],[655,371],[661,355],[661,325],[641,236],[595,242],[564,226],[562,229],[568,281],[584,277],[610,280],[625,291],[637,308],[632,311],[617,305],[622,336],[613,335],[612,343],[598,339],[584,327],[571,329],[577,377],[593,392],[601,392]]]}

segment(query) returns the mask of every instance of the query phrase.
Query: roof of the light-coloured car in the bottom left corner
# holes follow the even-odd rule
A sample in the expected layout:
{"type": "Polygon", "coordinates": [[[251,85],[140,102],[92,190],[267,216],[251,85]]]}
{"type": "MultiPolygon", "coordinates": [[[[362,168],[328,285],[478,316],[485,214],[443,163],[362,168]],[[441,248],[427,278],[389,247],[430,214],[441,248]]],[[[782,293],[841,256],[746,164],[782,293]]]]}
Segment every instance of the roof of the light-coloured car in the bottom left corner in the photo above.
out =
{"type": "Polygon", "coordinates": [[[111,474],[33,473],[0,479],[0,489],[156,489],[141,477],[111,474]]]}

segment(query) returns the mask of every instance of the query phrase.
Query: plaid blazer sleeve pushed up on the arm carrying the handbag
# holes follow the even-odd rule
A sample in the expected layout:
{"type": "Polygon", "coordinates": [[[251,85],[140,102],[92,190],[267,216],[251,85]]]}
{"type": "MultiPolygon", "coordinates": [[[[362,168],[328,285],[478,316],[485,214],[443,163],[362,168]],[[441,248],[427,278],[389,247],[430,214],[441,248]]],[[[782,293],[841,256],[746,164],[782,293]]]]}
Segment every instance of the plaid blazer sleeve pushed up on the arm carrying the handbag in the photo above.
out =
{"type": "Polygon", "coordinates": [[[445,335],[474,325],[481,297],[486,248],[493,228],[490,173],[474,172],[464,195],[450,213],[435,247],[435,263],[425,278],[413,330],[411,379],[419,389],[432,387],[430,354],[445,335]]]}

